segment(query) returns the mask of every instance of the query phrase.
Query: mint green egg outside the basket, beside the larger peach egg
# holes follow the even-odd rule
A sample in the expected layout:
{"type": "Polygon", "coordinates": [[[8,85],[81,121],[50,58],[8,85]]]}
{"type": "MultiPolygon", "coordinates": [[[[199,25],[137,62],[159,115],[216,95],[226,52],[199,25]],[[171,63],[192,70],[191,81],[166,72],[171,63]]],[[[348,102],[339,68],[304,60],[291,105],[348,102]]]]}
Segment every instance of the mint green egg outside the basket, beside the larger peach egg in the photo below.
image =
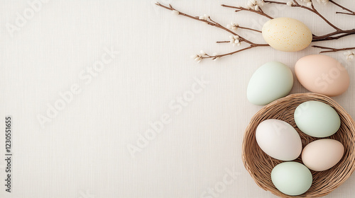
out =
{"type": "Polygon", "coordinates": [[[288,95],[292,87],[290,68],[280,62],[267,62],[251,76],[246,96],[254,105],[267,105],[288,95]]]}

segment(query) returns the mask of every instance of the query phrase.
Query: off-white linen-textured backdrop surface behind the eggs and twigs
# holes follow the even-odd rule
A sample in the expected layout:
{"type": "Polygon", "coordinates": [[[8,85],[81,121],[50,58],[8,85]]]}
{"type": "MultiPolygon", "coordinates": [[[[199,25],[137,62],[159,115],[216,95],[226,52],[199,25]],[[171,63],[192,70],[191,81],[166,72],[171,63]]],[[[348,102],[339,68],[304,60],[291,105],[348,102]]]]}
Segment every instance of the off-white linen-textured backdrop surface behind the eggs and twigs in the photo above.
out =
{"type": "MultiPolygon", "coordinates": [[[[13,153],[9,193],[1,133],[0,197],[275,197],[253,182],[241,162],[244,129],[261,109],[246,99],[246,87],[262,64],[278,61],[293,70],[297,59],[320,50],[260,47],[197,64],[190,56],[200,50],[239,47],[217,44],[229,40],[229,33],[172,15],[155,1],[53,0],[31,16],[27,2],[33,1],[0,1],[0,112],[2,123],[12,117],[13,153]],[[26,22],[18,19],[24,12],[30,15],[26,22]],[[16,21],[21,27],[9,31],[16,21]],[[76,94],[70,98],[68,91],[76,94]],[[63,103],[65,93],[69,102],[63,103]],[[50,112],[54,105],[57,113],[50,112]],[[41,124],[38,117],[47,120],[41,124]],[[150,123],[158,120],[166,124],[157,134],[150,123]]],[[[337,2],[355,9],[355,1],[337,2]]],[[[233,21],[260,30],[267,21],[220,6],[244,0],[160,3],[193,16],[206,13],[223,25],[233,21]]],[[[354,16],[334,13],[340,8],[315,6],[340,28],[355,27],[354,16]]],[[[297,18],[316,35],[332,31],[300,8],[263,10],[297,18]]],[[[263,42],[261,34],[240,33],[263,42]]],[[[354,41],[317,44],[354,47],[354,41]]],[[[342,52],[328,55],[342,62],[351,78],[349,90],[334,100],[355,117],[354,62],[342,52]]],[[[305,92],[295,79],[291,93],[305,92]]],[[[327,197],[354,197],[354,185],[352,175],[327,197]]]]}

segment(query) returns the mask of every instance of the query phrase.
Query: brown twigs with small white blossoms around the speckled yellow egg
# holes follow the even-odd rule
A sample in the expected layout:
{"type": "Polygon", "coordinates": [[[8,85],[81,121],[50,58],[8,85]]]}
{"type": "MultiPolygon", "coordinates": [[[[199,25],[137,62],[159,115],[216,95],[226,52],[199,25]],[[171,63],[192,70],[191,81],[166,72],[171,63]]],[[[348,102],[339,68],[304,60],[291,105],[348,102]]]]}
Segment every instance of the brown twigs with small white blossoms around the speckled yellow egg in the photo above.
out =
{"type": "MultiPolygon", "coordinates": [[[[333,0],[317,0],[318,3],[320,4],[327,4],[327,3],[332,3],[335,6],[338,6],[339,8],[344,9],[345,11],[349,12],[349,13],[345,13],[347,15],[355,15],[354,11],[351,11],[348,8],[345,8],[344,6],[341,6],[340,4],[337,4],[336,2],[334,2],[333,0]]],[[[201,62],[202,59],[212,59],[212,60],[217,60],[221,57],[225,57],[231,54],[236,54],[238,52],[242,52],[245,50],[250,50],[254,47],[267,47],[269,46],[268,44],[260,44],[260,43],[256,43],[256,42],[252,42],[251,40],[247,40],[245,37],[241,37],[241,35],[236,33],[236,30],[238,29],[242,29],[242,30],[251,30],[251,31],[255,31],[258,33],[261,33],[261,30],[256,30],[253,28],[248,28],[248,27],[244,27],[244,26],[240,26],[238,23],[234,23],[231,22],[230,24],[226,25],[226,27],[222,26],[220,23],[217,23],[216,21],[213,21],[212,18],[210,16],[208,16],[207,14],[204,14],[203,16],[191,16],[187,13],[182,13],[181,11],[178,11],[177,9],[173,8],[173,6],[171,6],[170,4],[168,6],[165,6],[163,4],[160,4],[159,2],[155,3],[156,5],[168,9],[170,11],[172,11],[173,14],[175,15],[180,15],[180,16],[185,16],[187,18],[192,18],[196,21],[201,21],[202,23],[205,23],[207,25],[212,25],[216,28],[222,29],[224,31],[226,31],[227,33],[230,33],[231,35],[229,36],[229,40],[223,40],[223,41],[217,41],[217,43],[231,43],[231,45],[233,46],[239,46],[241,45],[242,42],[245,42],[246,44],[249,45],[249,47],[244,47],[240,50],[236,50],[233,52],[229,52],[226,54],[212,54],[209,55],[205,52],[203,52],[201,50],[200,54],[196,54],[194,56],[192,56],[193,59],[195,59],[195,61],[197,62],[201,62]]],[[[258,15],[261,16],[265,16],[266,18],[270,18],[273,19],[273,16],[268,15],[268,13],[264,12],[263,9],[261,8],[262,6],[264,6],[265,4],[280,4],[280,5],[285,5],[285,6],[290,6],[293,8],[303,8],[307,11],[311,11],[312,13],[317,14],[317,16],[319,16],[320,18],[322,18],[322,20],[327,23],[329,26],[331,26],[332,28],[334,28],[335,30],[331,33],[327,33],[325,35],[312,35],[312,42],[320,42],[320,41],[327,41],[327,40],[337,40],[339,38],[342,37],[346,37],[349,35],[354,35],[355,34],[355,28],[353,29],[349,29],[349,30],[342,30],[341,28],[337,27],[337,25],[334,25],[332,22],[328,21],[327,18],[325,18],[324,16],[322,16],[321,13],[319,13],[317,11],[317,9],[315,8],[315,6],[313,5],[313,1],[312,0],[300,0],[300,3],[297,0],[290,0],[288,2],[282,2],[282,1],[268,1],[268,0],[248,0],[246,6],[229,6],[229,5],[224,5],[222,4],[222,6],[226,7],[226,8],[234,8],[235,12],[239,12],[239,11],[250,11],[252,13],[257,13],[258,15]]],[[[337,13],[342,13],[342,12],[337,12],[337,13]]],[[[355,49],[355,47],[347,47],[347,48],[330,48],[330,47],[322,47],[322,46],[318,46],[318,45],[313,45],[313,47],[317,47],[320,49],[323,49],[324,51],[320,52],[337,52],[337,51],[343,51],[343,50],[353,50],[355,49]]],[[[349,51],[351,52],[351,51],[349,51]]],[[[349,59],[353,59],[352,57],[354,57],[354,53],[351,55],[351,53],[347,52],[346,57],[350,57],[349,59]]],[[[347,58],[348,59],[348,58],[347,58]]]]}

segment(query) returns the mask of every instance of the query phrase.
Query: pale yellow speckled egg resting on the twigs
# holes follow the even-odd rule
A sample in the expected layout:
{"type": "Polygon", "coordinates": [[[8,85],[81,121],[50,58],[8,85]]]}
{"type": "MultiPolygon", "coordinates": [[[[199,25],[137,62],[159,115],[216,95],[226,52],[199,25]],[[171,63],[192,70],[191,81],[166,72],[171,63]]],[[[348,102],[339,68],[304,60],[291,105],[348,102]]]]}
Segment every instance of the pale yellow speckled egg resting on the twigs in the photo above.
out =
{"type": "Polygon", "coordinates": [[[276,50],[296,52],[312,42],[312,32],[294,18],[274,18],[263,25],[264,40],[276,50]]]}

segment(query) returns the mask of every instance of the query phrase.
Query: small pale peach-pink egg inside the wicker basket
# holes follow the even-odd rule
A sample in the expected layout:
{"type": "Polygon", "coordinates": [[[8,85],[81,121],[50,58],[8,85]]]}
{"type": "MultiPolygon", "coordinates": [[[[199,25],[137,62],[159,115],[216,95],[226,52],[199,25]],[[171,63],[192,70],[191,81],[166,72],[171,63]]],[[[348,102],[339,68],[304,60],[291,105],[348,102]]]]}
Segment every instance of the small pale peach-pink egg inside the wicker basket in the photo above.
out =
{"type": "Polygon", "coordinates": [[[302,162],[310,170],[323,171],[336,165],[343,155],[342,143],[334,139],[319,139],[303,148],[302,162]]]}

